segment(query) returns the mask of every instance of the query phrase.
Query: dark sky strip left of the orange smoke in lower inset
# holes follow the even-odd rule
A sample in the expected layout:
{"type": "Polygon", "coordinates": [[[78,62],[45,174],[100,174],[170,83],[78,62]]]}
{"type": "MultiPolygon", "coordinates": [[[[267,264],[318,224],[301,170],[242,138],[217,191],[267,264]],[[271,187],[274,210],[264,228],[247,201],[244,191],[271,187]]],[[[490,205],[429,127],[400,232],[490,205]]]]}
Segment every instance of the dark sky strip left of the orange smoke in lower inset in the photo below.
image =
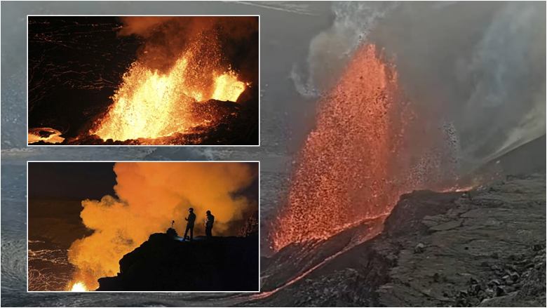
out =
{"type": "Polygon", "coordinates": [[[101,199],[114,195],[112,162],[29,162],[29,196],[101,199]]]}

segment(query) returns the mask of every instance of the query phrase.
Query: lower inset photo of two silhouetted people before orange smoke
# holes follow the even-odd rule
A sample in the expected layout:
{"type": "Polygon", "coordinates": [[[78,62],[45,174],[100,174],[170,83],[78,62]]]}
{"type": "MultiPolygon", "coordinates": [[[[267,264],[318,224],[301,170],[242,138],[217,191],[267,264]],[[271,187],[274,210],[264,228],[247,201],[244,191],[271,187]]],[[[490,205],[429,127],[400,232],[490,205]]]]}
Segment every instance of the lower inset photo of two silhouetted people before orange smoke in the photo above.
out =
{"type": "Polygon", "coordinates": [[[259,162],[27,168],[28,291],[259,291],[259,162]]]}

